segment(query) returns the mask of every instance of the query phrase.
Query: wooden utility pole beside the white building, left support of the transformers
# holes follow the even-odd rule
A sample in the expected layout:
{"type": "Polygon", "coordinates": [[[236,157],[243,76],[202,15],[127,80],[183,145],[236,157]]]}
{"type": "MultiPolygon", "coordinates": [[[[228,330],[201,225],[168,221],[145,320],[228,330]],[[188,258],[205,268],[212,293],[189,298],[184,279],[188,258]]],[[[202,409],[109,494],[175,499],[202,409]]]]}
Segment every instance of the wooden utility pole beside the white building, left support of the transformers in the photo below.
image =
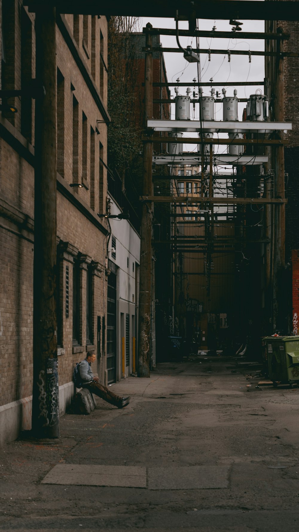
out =
{"type": "MultiPolygon", "coordinates": [[[[146,28],[152,28],[149,22],[146,28]]],[[[152,47],[152,36],[146,33],[146,48],[152,47]]],[[[153,53],[145,52],[145,87],[144,87],[144,120],[145,132],[147,120],[153,116],[153,53]]],[[[143,147],[143,196],[153,195],[152,181],[153,143],[144,142],[143,147]]],[[[138,377],[149,377],[151,358],[151,269],[152,269],[152,202],[144,202],[140,227],[140,289],[139,289],[139,320],[138,320],[138,377]]]]}

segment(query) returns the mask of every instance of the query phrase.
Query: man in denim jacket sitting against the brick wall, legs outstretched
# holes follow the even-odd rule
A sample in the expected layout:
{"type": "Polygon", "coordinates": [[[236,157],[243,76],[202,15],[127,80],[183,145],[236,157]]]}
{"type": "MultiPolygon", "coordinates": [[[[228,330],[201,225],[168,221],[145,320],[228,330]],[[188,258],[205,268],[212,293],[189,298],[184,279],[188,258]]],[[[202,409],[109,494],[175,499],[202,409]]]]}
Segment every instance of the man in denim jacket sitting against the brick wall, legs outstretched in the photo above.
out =
{"type": "Polygon", "coordinates": [[[98,397],[101,397],[104,401],[107,401],[107,403],[113,404],[118,408],[127,406],[130,397],[120,397],[119,395],[114,394],[109,388],[106,388],[106,386],[99,383],[98,377],[94,377],[91,366],[95,359],[96,355],[94,352],[89,351],[86,355],[86,359],[78,364],[81,379],[81,382],[79,383],[80,386],[82,388],[88,388],[90,392],[98,395],[98,397]]]}

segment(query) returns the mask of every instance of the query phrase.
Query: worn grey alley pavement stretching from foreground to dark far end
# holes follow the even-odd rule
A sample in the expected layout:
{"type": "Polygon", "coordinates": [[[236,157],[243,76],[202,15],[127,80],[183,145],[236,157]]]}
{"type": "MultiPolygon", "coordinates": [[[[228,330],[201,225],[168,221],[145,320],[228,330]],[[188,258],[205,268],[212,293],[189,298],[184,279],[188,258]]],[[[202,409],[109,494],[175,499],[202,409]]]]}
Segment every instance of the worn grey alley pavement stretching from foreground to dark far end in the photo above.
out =
{"type": "Polygon", "coordinates": [[[243,358],[158,364],[66,414],[60,438],[0,448],[0,530],[297,532],[299,388],[243,358]]]}

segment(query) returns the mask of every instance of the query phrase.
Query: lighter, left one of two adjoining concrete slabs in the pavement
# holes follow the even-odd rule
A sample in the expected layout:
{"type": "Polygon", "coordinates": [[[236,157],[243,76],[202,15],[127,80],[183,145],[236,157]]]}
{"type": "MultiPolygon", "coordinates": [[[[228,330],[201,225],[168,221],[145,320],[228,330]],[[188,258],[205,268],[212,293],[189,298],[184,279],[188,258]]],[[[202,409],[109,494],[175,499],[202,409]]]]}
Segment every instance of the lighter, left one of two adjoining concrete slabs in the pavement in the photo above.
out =
{"type": "Polygon", "coordinates": [[[41,484],[146,488],[146,468],[129,465],[57,464],[41,484]]]}

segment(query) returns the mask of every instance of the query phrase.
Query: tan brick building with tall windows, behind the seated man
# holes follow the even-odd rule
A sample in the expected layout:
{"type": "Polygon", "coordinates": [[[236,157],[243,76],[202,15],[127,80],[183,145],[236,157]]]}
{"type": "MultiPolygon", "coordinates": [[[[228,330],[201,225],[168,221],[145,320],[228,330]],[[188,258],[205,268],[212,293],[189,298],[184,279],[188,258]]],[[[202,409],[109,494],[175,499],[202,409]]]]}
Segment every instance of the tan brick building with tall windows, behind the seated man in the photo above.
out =
{"type": "MultiPolygon", "coordinates": [[[[34,13],[2,0],[0,117],[0,432],[12,440],[31,426],[34,256],[34,13]],[[15,106],[17,113],[7,111],[15,106]]],[[[106,370],[109,233],[98,212],[107,195],[107,19],[56,15],[57,343],[60,412],[70,403],[74,363],[96,350],[106,370]]]]}

